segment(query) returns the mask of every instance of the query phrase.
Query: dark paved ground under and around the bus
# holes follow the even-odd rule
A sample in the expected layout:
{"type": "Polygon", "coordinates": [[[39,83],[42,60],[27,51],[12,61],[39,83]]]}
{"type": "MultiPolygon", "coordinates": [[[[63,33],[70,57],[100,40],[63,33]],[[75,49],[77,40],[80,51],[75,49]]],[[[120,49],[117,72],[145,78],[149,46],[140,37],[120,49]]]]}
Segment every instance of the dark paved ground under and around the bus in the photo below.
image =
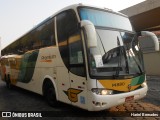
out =
{"type": "MultiPolygon", "coordinates": [[[[48,116],[55,116],[55,119],[87,119],[87,120],[160,120],[160,78],[159,77],[148,77],[149,91],[145,98],[139,101],[125,103],[116,107],[112,107],[105,111],[100,112],[88,112],[71,105],[59,103],[58,107],[53,108],[48,106],[44,98],[35,93],[16,88],[12,90],[6,88],[5,83],[0,80],[0,111],[18,111],[24,113],[28,112],[42,112],[42,119],[53,119],[53,117],[44,117],[45,114],[48,116]],[[43,113],[43,111],[45,113],[43,113]],[[134,116],[136,113],[157,113],[158,117],[142,117],[134,116]],[[111,114],[110,114],[111,113],[111,114]],[[131,116],[132,113],[132,117],[131,116]],[[117,115],[123,117],[117,117],[117,115]],[[129,116],[128,116],[129,115],[129,116]],[[134,117],[133,117],[134,116],[134,117]]],[[[16,118],[0,118],[4,120],[19,119],[16,118]]],[[[35,118],[32,118],[35,119],[35,118]]]]}

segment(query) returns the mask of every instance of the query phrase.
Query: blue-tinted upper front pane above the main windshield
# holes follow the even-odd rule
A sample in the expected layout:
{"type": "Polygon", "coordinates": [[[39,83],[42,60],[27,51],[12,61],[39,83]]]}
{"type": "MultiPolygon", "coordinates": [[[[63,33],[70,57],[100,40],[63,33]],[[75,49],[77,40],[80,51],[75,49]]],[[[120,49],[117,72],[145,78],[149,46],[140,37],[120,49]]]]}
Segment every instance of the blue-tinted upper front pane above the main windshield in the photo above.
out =
{"type": "Polygon", "coordinates": [[[96,27],[109,27],[132,31],[127,17],[90,8],[80,8],[82,20],[90,20],[96,27]]]}

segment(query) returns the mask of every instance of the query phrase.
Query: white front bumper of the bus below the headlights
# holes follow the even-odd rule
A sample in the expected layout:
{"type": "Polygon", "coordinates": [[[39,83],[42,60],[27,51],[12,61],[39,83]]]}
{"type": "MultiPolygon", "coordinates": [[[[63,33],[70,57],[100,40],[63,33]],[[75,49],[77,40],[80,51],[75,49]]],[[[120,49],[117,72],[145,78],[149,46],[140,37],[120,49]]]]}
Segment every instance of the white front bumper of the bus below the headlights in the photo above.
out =
{"type": "Polygon", "coordinates": [[[143,83],[143,88],[121,94],[114,95],[97,95],[92,91],[88,91],[88,110],[89,111],[101,111],[113,106],[117,106],[125,103],[126,97],[134,96],[134,100],[139,100],[146,96],[148,86],[143,83]]]}

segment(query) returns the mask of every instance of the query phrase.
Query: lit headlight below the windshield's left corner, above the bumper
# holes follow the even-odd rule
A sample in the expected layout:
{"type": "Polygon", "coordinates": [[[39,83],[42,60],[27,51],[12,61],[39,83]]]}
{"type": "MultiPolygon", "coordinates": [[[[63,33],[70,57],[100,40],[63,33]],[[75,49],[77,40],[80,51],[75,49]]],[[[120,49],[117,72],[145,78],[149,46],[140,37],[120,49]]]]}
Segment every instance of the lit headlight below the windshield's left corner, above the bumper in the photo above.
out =
{"type": "Polygon", "coordinates": [[[112,90],[107,89],[100,89],[100,88],[92,88],[91,90],[93,93],[96,93],[97,95],[112,95],[112,90]]]}

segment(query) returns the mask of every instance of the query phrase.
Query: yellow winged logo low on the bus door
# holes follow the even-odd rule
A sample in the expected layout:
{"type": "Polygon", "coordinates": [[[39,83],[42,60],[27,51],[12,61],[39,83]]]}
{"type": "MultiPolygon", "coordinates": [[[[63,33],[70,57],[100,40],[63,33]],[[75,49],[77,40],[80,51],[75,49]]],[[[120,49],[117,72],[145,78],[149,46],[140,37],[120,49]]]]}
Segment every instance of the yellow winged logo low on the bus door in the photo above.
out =
{"type": "Polygon", "coordinates": [[[64,93],[68,96],[68,99],[71,102],[78,102],[78,94],[81,93],[82,90],[69,88],[67,91],[64,91],[64,93]]]}

